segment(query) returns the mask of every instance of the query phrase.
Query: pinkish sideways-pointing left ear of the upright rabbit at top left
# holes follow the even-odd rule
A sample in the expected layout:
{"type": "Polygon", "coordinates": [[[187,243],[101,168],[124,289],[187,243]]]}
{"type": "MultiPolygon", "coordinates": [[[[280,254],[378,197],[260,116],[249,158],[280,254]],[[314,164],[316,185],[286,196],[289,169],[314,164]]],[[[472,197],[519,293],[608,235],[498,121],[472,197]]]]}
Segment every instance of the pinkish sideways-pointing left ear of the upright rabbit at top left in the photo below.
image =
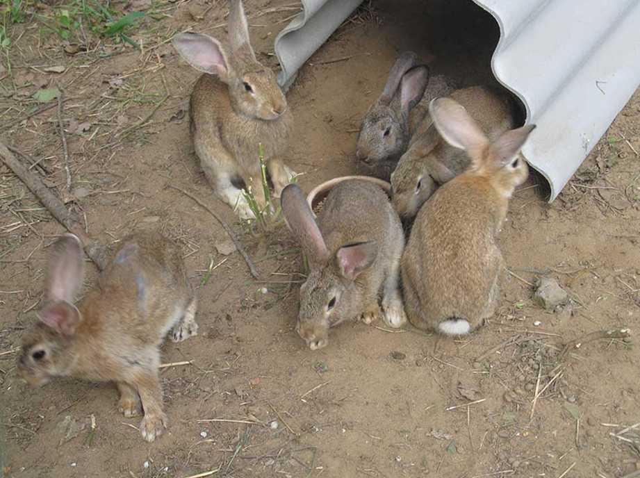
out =
{"type": "Polygon", "coordinates": [[[229,78],[227,53],[215,38],[187,32],[175,35],[172,43],[180,56],[195,69],[218,75],[222,81],[229,78]]]}

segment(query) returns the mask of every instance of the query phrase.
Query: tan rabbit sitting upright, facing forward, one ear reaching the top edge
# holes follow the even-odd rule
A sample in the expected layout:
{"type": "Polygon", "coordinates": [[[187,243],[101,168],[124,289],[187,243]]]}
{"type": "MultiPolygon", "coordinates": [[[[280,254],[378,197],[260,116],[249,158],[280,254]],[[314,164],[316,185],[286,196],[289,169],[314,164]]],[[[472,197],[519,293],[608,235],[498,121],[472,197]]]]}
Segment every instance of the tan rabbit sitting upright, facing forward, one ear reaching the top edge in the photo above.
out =
{"type": "Polygon", "coordinates": [[[293,116],[273,72],[261,65],[249,44],[242,1],[231,0],[229,48],[199,33],[180,33],[174,47],[204,72],[190,100],[190,132],[204,174],[222,201],[238,215],[254,217],[242,190],[251,188],[265,206],[258,145],[279,197],[295,176],[283,162],[293,116]]]}

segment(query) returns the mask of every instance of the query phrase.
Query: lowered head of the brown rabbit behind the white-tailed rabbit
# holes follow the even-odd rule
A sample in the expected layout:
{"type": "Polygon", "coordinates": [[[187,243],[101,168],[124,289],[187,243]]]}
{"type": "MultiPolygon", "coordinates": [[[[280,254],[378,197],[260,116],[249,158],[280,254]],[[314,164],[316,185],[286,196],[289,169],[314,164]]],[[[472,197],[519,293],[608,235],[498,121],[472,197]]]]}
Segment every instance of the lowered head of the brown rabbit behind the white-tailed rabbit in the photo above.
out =
{"type": "Polygon", "coordinates": [[[400,217],[414,217],[438,186],[453,179],[455,173],[447,166],[450,162],[443,158],[451,150],[464,155],[443,142],[430,125],[402,155],[391,174],[391,203],[400,217]]]}

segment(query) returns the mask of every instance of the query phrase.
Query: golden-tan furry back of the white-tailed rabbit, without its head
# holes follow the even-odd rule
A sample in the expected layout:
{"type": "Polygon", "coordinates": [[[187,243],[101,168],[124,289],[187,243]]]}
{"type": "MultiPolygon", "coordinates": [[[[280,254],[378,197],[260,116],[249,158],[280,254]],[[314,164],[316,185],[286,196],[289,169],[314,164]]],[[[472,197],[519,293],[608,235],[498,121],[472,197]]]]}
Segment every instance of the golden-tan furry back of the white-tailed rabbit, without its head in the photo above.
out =
{"type": "Polygon", "coordinates": [[[465,333],[493,315],[503,259],[490,220],[492,191],[482,186],[447,183],[416,217],[402,256],[407,318],[416,327],[447,333],[441,324],[459,319],[465,333]]]}

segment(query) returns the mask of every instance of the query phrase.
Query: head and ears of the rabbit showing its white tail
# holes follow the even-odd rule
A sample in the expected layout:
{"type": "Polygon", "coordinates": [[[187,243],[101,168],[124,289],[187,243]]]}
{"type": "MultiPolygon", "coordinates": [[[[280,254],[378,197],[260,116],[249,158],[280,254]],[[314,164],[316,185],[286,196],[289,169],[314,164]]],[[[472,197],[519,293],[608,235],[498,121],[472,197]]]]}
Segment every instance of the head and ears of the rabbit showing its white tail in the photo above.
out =
{"type": "Polygon", "coordinates": [[[470,159],[468,175],[488,178],[505,199],[526,181],[529,167],[519,152],[535,129],[534,124],[506,131],[491,142],[475,119],[453,99],[434,99],[429,104],[429,114],[442,138],[466,151],[470,159]]]}

